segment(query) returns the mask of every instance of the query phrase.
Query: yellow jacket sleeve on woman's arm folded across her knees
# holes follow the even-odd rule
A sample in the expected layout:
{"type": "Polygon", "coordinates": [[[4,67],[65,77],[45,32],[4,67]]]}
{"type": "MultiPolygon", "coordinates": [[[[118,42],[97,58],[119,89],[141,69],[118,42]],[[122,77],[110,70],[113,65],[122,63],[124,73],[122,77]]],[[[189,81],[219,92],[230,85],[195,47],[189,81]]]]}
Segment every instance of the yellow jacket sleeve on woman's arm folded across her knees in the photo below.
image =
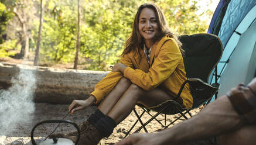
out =
{"type": "Polygon", "coordinates": [[[127,67],[124,71],[124,77],[131,80],[133,84],[149,91],[165,81],[175,71],[181,60],[182,54],[178,44],[173,40],[168,40],[160,48],[159,54],[155,57],[155,61],[148,72],[127,67]]]}

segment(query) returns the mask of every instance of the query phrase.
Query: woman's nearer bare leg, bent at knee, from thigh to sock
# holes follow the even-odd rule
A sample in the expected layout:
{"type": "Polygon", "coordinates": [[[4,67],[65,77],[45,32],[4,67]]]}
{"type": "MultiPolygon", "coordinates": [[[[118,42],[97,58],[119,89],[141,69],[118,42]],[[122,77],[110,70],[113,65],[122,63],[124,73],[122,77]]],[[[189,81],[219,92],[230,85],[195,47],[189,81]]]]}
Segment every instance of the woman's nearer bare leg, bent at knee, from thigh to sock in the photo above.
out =
{"type": "Polygon", "coordinates": [[[170,99],[174,98],[162,89],[155,88],[151,91],[145,91],[137,85],[131,84],[108,113],[108,116],[114,119],[115,123],[118,124],[127,118],[136,105],[136,102],[142,103],[145,106],[155,106],[170,99]]]}

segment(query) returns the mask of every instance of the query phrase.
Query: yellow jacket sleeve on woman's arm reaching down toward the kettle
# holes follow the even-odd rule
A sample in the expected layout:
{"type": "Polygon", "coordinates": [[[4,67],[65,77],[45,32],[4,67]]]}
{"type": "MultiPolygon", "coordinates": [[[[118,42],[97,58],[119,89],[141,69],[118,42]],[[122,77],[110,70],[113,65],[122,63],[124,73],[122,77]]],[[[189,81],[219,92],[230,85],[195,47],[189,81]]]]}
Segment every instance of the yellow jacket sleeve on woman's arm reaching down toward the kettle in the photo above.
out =
{"type": "MultiPolygon", "coordinates": [[[[133,67],[132,61],[129,58],[128,54],[125,54],[120,59],[120,63],[127,65],[128,67],[133,67]]],[[[110,93],[110,91],[117,85],[117,82],[123,77],[122,72],[120,71],[111,71],[108,73],[103,80],[98,82],[95,85],[94,91],[91,92],[90,96],[93,95],[96,98],[96,102],[98,103],[103,99],[106,95],[110,93]]]]}

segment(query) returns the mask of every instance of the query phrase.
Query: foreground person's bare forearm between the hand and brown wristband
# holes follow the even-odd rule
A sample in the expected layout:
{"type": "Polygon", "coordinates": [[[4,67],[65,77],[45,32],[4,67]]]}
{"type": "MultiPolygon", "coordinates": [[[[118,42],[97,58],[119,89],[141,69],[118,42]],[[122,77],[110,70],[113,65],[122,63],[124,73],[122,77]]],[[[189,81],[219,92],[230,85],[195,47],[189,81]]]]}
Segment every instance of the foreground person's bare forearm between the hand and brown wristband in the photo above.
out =
{"type": "Polygon", "coordinates": [[[243,122],[227,96],[223,96],[210,103],[189,120],[185,120],[168,130],[159,132],[165,143],[185,143],[191,140],[204,139],[237,129],[243,126],[243,122]]]}

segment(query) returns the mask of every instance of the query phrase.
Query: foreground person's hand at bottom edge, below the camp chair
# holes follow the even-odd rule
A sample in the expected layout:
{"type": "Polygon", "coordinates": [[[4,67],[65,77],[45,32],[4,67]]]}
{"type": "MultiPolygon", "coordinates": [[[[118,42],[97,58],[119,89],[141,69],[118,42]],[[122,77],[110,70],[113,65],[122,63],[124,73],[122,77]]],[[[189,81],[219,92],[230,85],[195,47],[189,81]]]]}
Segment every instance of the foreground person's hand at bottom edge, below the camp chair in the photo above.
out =
{"type": "Polygon", "coordinates": [[[115,145],[159,145],[156,133],[135,133],[115,145]]]}

